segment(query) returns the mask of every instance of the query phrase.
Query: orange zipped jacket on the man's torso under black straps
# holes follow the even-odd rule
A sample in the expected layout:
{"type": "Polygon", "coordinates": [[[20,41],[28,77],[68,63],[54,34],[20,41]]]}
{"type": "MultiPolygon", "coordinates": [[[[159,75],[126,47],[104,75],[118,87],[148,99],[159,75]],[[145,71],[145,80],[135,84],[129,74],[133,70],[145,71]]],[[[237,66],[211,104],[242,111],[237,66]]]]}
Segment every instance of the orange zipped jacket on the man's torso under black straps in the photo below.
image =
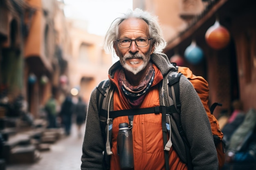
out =
{"type": "MultiPolygon", "coordinates": [[[[153,65],[155,69],[155,79],[146,94],[141,108],[159,106],[158,83],[163,79],[159,69],[153,65]]],[[[117,71],[118,72],[118,71],[117,71]]],[[[117,74],[115,73],[112,81],[118,86],[117,74]]],[[[114,110],[129,109],[130,106],[121,93],[120,89],[115,91],[114,110]],[[121,95],[119,95],[121,94],[121,95]]],[[[120,170],[119,156],[117,155],[117,134],[120,123],[129,123],[128,116],[117,117],[113,120],[112,125],[112,152],[110,161],[110,170],[120,170]]],[[[135,115],[133,119],[133,152],[134,152],[134,169],[135,170],[165,170],[164,161],[164,144],[162,133],[162,114],[144,114],[135,115]]],[[[173,147],[169,151],[170,170],[187,170],[186,164],[182,163],[177,156],[173,147]]]]}

